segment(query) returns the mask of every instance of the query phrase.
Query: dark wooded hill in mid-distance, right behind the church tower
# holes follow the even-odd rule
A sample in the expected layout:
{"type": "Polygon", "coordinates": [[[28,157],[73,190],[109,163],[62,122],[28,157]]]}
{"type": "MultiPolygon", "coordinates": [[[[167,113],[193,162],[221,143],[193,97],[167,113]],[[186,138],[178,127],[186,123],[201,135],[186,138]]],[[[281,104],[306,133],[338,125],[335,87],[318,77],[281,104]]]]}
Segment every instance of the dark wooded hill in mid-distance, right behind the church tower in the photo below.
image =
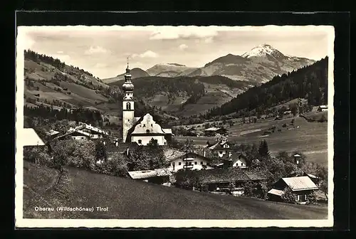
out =
{"type": "MultiPolygon", "coordinates": [[[[120,80],[109,85],[121,91],[123,83],[124,80],[120,80]]],[[[150,76],[135,78],[132,83],[138,99],[169,114],[186,117],[220,106],[249,87],[244,81],[231,80],[220,75],[194,78],[150,76]]]]}

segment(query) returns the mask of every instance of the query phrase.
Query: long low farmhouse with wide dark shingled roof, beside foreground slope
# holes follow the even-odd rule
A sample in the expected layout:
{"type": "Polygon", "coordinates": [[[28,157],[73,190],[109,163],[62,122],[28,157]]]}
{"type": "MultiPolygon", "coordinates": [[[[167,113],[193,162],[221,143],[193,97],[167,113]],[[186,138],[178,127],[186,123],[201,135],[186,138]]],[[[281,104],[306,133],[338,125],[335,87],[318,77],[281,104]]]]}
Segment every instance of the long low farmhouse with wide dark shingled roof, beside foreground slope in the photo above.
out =
{"type": "Polygon", "coordinates": [[[246,169],[211,169],[197,171],[197,176],[201,184],[205,185],[208,191],[231,193],[239,196],[244,193],[244,185],[248,182],[260,183],[266,181],[268,171],[255,171],[246,169]],[[233,188],[231,188],[233,184],[233,188]]]}

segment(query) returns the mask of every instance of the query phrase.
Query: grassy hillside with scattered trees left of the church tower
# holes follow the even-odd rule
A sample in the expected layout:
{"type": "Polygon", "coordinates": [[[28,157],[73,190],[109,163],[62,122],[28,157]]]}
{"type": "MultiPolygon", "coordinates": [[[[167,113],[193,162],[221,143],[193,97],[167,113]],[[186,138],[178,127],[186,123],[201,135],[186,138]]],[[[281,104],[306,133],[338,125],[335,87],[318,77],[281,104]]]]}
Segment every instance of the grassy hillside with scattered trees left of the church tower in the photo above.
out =
{"type": "MultiPolygon", "coordinates": [[[[142,70],[134,72],[142,73],[142,70]]],[[[26,112],[31,112],[31,117],[46,118],[51,115],[51,110],[65,108],[96,110],[112,122],[119,120],[122,113],[120,92],[83,69],[28,50],[24,52],[24,73],[24,107],[26,112]]],[[[135,103],[135,109],[138,116],[150,112],[160,117],[157,109],[140,99],[135,103]]],[[[162,118],[168,117],[162,114],[162,118]]]]}

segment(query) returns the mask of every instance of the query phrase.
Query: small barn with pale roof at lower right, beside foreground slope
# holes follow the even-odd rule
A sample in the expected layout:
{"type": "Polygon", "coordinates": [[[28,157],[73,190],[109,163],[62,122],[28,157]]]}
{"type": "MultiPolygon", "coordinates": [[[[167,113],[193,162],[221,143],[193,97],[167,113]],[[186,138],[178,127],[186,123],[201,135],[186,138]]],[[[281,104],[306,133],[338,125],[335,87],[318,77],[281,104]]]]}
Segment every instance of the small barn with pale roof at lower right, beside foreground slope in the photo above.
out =
{"type": "Polygon", "coordinates": [[[289,178],[282,178],[273,185],[273,188],[268,191],[268,198],[272,201],[283,201],[282,195],[286,188],[290,188],[295,194],[295,201],[300,204],[305,204],[308,195],[318,190],[318,186],[310,179],[309,176],[296,176],[289,178]]]}

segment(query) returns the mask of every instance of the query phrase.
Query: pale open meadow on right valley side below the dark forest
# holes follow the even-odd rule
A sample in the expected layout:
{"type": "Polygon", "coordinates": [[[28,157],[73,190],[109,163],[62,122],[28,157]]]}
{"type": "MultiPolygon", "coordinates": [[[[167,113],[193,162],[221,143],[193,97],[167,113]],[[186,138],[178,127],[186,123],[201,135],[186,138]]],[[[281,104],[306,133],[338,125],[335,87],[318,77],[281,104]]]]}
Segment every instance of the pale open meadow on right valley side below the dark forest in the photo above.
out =
{"type": "MultiPolygon", "coordinates": [[[[322,112],[325,114],[326,112],[322,112]]],[[[317,113],[318,115],[321,113],[317,113]]],[[[279,151],[300,151],[323,166],[328,166],[328,122],[307,122],[302,117],[295,117],[294,126],[290,125],[292,118],[273,120],[266,119],[255,124],[236,124],[229,129],[229,141],[238,144],[259,144],[266,139],[271,154],[279,151]],[[283,127],[283,124],[288,124],[283,127]],[[264,134],[275,126],[275,132],[264,134]],[[281,129],[278,132],[277,129],[281,129]]],[[[204,129],[204,128],[201,128],[204,129]]],[[[175,137],[178,140],[192,139],[194,144],[205,145],[206,141],[214,142],[214,137],[175,137]]]]}

